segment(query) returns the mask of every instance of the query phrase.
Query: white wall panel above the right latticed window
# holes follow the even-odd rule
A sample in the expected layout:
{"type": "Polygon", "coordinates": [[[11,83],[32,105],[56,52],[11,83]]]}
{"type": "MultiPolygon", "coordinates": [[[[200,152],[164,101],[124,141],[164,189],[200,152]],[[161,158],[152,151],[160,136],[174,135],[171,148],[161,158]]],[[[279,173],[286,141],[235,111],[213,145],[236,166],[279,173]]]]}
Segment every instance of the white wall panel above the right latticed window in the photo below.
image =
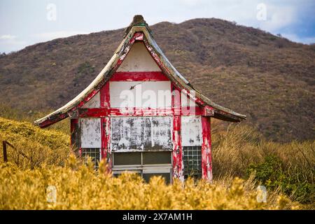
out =
{"type": "Polygon", "coordinates": [[[200,116],[181,117],[181,145],[202,145],[202,122],[200,116]]]}

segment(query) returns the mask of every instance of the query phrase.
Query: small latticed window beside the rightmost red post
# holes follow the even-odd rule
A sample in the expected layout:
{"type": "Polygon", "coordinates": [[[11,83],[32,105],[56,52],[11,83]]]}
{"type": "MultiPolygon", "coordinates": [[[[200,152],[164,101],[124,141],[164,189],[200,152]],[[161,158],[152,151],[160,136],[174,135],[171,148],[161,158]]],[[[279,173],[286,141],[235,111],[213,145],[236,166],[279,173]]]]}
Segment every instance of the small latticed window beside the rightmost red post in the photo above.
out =
{"type": "Polygon", "coordinates": [[[202,177],[202,153],[201,146],[183,146],[183,164],[185,178],[193,176],[202,177]]]}

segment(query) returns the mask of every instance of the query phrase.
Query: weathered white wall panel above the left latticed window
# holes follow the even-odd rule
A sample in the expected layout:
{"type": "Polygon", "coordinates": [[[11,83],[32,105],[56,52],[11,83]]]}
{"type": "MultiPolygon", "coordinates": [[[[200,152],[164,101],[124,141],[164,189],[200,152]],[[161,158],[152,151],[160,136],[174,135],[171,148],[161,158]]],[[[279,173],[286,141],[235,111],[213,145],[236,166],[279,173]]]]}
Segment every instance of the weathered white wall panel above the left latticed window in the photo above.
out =
{"type": "Polygon", "coordinates": [[[80,118],[81,148],[101,148],[101,119],[80,118]]]}

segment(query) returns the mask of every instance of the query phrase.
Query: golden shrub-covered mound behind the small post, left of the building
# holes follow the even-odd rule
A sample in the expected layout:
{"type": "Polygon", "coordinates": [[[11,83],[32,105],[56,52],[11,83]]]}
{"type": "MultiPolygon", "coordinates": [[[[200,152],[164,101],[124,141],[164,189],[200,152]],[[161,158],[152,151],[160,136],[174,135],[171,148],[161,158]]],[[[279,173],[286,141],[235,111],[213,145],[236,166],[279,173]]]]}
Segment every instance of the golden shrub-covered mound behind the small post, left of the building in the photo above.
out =
{"type": "MultiPolygon", "coordinates": [[[[27,122],[0,118],[0,143],[8,141],[8,159],[22,169],[64,164],[71,151],[69,136],[57,130],[42,130],[27,122]]],[[[3,160],[1,147],[0,158],[3,160]]]]}

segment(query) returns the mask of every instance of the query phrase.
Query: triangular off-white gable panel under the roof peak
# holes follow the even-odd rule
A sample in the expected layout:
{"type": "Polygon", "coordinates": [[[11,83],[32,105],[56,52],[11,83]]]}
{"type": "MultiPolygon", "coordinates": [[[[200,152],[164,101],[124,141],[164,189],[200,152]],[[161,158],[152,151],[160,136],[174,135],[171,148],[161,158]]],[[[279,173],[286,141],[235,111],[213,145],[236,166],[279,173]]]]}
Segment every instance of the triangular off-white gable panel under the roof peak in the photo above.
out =
{"type": "Polygon", "coordinates": [[[132,45],[117,71],[161,71],[142,42],[132,45]]]}

